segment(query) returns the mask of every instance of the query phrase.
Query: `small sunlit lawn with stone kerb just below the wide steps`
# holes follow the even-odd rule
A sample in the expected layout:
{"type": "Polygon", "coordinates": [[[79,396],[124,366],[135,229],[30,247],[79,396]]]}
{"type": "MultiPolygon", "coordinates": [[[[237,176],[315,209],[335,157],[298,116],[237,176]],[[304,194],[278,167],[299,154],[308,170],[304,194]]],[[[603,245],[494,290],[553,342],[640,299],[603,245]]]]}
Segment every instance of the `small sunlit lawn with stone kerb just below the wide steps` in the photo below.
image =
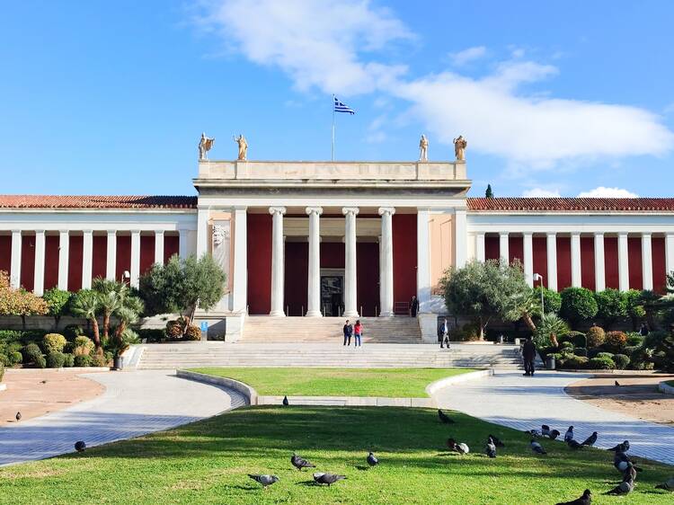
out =
{"type": "Polygon", "coordinates": [[[471,368],[191,368],[229,377],[269,396],[386,396],[424,398],[426,386],[471,368]]]}

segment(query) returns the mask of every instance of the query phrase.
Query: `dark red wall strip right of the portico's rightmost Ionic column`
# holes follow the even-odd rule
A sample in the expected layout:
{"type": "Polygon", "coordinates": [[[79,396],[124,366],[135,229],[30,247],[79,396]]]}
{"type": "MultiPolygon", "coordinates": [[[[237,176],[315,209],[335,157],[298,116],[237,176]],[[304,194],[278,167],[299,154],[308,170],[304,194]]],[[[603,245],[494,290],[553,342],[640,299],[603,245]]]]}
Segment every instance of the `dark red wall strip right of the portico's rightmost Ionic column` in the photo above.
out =
{"type": "Polygon", "coordinates": [[[417,292],[417,217],[416,214],[394,214],[394,309],[407,304],[417,292]]]}

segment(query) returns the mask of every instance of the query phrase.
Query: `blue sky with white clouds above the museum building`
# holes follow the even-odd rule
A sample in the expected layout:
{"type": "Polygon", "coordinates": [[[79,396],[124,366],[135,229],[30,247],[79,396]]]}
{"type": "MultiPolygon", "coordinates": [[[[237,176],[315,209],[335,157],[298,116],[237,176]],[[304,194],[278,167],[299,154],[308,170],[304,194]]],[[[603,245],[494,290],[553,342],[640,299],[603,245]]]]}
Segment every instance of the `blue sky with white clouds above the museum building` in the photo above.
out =
{"type": "Polygon", "coordinates": [[[211,159],[430,161],[471,196],[672,196],[674,3],[0,4],[0,193],[195,194],[211,159]]]}

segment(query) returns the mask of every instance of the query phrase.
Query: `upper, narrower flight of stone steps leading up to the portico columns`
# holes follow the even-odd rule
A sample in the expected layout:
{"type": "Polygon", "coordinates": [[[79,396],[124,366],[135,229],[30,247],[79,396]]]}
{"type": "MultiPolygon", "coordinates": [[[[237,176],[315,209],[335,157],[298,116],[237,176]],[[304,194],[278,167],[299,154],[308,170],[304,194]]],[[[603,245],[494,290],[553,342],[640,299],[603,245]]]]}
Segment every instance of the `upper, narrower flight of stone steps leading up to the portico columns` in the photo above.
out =
{"type": "MultiPolygon", "coordinates": [[[[242,342],[339,342],[343,341],[345,317],[245,318],[242,342]]],[[[353,320],[351,323],[355,323],[353,320]]],[[[361,317],[363,343],[421,343],[421,330],[413,317],[361,317]]]]}

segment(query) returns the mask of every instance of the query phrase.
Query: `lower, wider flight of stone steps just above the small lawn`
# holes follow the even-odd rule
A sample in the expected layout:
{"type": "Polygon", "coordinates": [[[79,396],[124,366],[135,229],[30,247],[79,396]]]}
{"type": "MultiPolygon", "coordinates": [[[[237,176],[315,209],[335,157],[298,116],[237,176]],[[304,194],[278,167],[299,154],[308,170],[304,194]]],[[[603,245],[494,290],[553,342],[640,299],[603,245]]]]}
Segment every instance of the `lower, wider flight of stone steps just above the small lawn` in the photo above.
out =
{"type": "Polygon", "coordinates": [[[145,344],[137,368],[519,368],[518,349],[507,345],[184,342],[145,344]]]}

